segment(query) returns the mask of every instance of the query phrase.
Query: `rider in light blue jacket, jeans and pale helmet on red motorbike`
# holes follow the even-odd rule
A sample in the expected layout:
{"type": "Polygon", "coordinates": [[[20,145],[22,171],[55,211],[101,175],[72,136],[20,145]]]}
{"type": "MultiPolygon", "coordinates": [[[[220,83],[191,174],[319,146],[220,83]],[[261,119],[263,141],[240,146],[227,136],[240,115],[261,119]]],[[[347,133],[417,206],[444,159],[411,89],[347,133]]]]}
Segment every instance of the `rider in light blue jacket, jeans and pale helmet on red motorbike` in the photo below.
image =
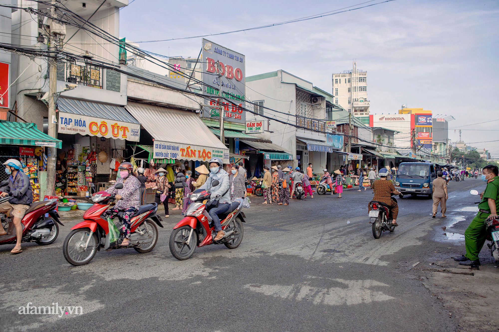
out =
{"type": "MultiPolygon", "coordinates": [[[[214,240],[218,241],[225,235],[218,215],[223,214],[231,207],[231,195],[229,194],[229,173],[222,168],[222,159],[219,157],[213,157],[210,159],[210,177],[206,180],[204,185],[199,187],[199,189],[207,191],[210,190],[210,202],[219,200],[218,207],[212,208],[208,212],[210,217],[212,217],[215,222],[215,230],[217,231],[217,236],[215,236],[214,240]],[[219,185],[212,187],[212,182],[215,180],[219,181],[219,185]]],[[[207,203],[207,207],[210,206],[210,202],[207,203]]]]}

